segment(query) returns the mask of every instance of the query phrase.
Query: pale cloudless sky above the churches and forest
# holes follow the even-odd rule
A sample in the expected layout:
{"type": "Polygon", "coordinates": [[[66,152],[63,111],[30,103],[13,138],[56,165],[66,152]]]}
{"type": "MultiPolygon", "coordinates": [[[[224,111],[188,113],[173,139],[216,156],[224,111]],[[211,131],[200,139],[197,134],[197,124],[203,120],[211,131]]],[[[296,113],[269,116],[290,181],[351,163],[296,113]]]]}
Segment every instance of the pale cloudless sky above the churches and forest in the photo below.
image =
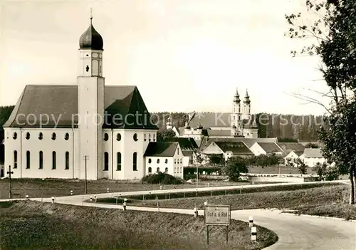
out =
{"type": "MultiPolygon", "coordinates": [[[[75,84],[78,41],[103,36],[107,85],[137,85],[150,112],[231,112],[236,88],[251,113],[321,115],[293,98],[325,90],[311,41],[284,36],[305,0],[0,1],[0,105],[26,84],[75,84]]],[[[328,101],[328,100],[323,100],[328,101]]]]}

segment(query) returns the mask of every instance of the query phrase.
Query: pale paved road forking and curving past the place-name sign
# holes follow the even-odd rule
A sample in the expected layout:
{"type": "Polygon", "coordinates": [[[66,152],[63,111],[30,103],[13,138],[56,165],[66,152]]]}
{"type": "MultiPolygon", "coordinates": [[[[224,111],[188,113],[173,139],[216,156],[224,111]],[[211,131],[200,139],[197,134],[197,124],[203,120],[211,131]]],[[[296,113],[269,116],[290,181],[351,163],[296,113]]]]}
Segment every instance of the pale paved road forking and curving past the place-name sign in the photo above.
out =
{"type": "MultiPolygon", "coordinates": [[[[285,184],[260,184],[253,187],[268,187],[271,185],[285,184]]],[[[288,184],[290,185],[290,184],[288,184]]],[[[240,186],[241,187],[241,186],[240,186]]],[[[248,186],[251,187],[251,186],[248,186]]],[[[199,191],[217,190],[217,189],[236,189],[236,187],[204,187],[199,191]]],[[[243,187],[243,188],[246,188],[243,187]]],[[[175,189],[175,190],[152,190],[152,194],[169,193],[169,192],[194,192],[196,189],[175,189]]],[[[142,192],[122,192],[122,197],[133,194],[147,194],[142,192]]],[[[113,197],[117,193],[97,194],[98,198],[113,197]]],[[[103,207],[110,209],[122,209],[122,206],[115,204],[98,204],[83,202],[89,199],[90,195],[73,195],[68,197],[56,197],[56,203],[72,204],[77,206],[103,207]]],[[[51,202],[51,199],[32,199],[43,202],[51,202]]],[[[148,207],[127,207],[130,210],[156,211],[157,208],[148,207]]],[[[193,209],[159,209],[159,212],[194,214],[193,209]]],[[[200,210],[199,214],[203,214],[200,210]]],[[[255,224],[271,229],[278,234],[278,241],[267,249],[290,250],[290,249],[356,249],[356,223],[345,222],[336,219],[324,219],[320,217],[303,217],[294,214],[282,214],[278,210],[236,210],[231,212],[232,219],[248,221],[248,217],[253,216],[255,224]]]]}

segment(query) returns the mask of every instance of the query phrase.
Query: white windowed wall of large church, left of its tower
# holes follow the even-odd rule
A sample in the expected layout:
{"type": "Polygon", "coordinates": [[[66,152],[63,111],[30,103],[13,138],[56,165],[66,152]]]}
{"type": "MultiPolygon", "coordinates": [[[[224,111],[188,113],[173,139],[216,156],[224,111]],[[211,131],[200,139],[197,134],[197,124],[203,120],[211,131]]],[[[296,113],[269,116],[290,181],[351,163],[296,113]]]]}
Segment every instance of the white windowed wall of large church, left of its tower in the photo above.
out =
{"type": "Polygon", "coordinates": [[[5,128],[5,155],[6,166],[11,165],[14,171],[13,178],[75,178],[73,168],[73,131],[70,129],[51,128],[5,128]],[[16,140],[13,139],[17,132],[16,140]],[[26,139],[26,133],[30,138],[26,139]],[[38,135],[42,132],[43,139],[38,135]],[[52,134],[56,132],[56,140],[52,140],[52,134]],[[68,140],[64,137],[68,132],[68,140]],[[18,166],[14,169],[14,150],[18,154],[18,166]],[[26,152],[30,152],[30,168],[26,169],[26,152]],[[43,169],[39,169],[39,152],[43,152],[43,169]],[[56,169],[52,169],[52,152],[56,152],[56,169]],[[66,152],[69,152],[69,169],[66,170],[66,152]]]}

